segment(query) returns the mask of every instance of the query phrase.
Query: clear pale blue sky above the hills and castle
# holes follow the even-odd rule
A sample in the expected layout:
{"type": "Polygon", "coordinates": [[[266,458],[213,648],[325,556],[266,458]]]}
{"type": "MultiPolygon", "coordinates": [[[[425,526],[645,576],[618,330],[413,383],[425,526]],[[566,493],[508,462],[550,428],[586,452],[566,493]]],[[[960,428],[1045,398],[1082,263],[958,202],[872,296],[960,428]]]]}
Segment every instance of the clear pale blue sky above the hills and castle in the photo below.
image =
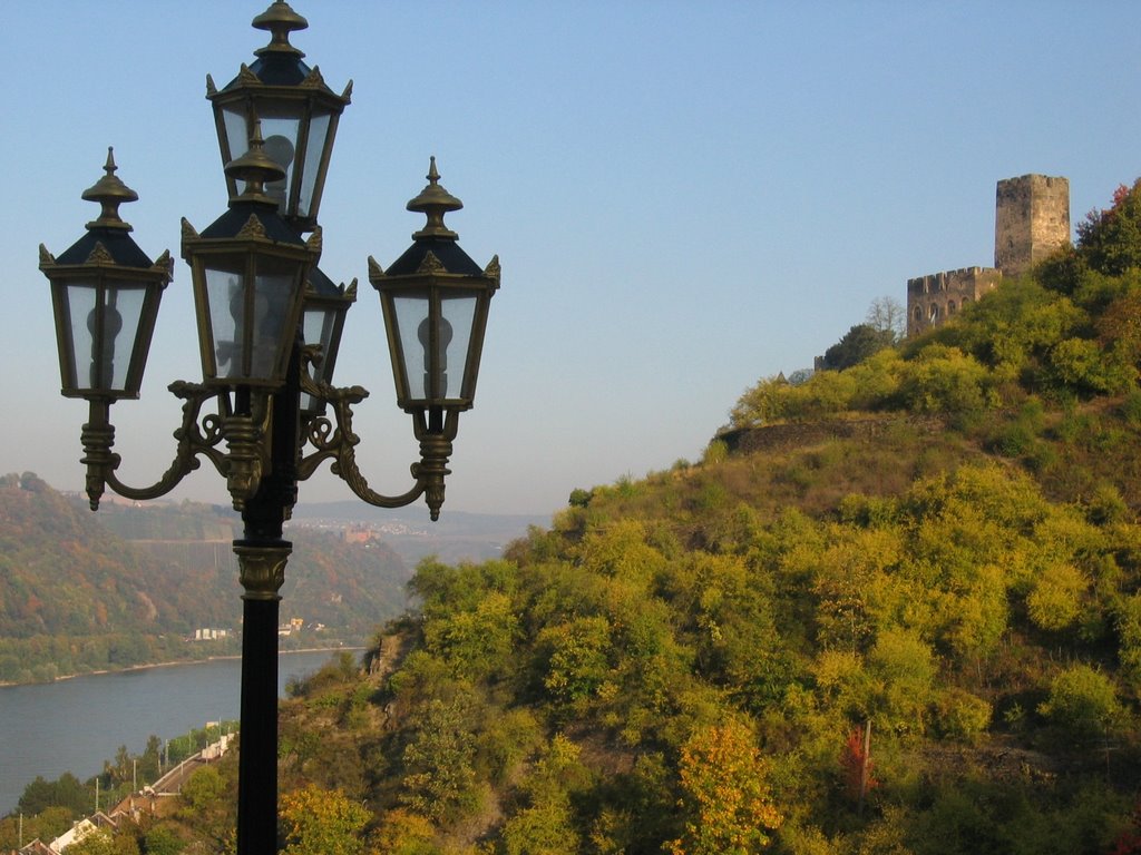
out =
{"type": "MultiPolygon", "coordinates": [[[[15,365],[0,471],[80,489],[86,405],[58,394],[39,243],[95,217],[80,193],[115,146],[152,256],[226,206],[205,75],[266,36],[267,0],[40,0],[5,8],[0,137],[15,365]],[[193,9],[193,14],[189,14],[193,9]]],[[[903,301],[908,277],[994,252],[995,182],[1070,180],[1071,217],[1141,174],[1141,13],[1132,2],[333,2],[297,0],[293,43],[355,81],[321,211],[322,269],[362,280],[338,382],[362,408],[361,465],[403,491],[396,412],[366,258],[395,260],[435,154],[480,263],[499,253],[476,408],[450,508],[548,513],[575,487],[697,459],[741,392],[812,364],[903,301]]],[[[178,261],[140,401],[115,405],[124,480],[165,467],[201,376],[178,261]]],[[[301,500],[348,498],[335,479],[301,500]]],[[[204,464],[176,496],[225,500],[204,464]]]]}

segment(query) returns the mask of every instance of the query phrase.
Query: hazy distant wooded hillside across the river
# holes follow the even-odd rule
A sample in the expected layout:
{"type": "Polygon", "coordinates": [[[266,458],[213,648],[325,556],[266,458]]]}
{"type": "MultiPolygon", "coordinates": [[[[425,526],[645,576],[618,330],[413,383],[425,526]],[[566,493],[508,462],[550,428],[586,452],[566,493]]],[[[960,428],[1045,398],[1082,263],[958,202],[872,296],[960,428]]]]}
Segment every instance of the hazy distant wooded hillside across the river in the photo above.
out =
{"type": "MultiPolygon", "coordinates": [[[[83,500],[34,474],[0,478],[0,683],[205,658],[241,650],[234,519],[208,505],[83,500]],[[196,629],[225,640],[189,642],[196,629]]],[[[407,572],[379,543],[306,532],[282,594],[307,643],[362,643],[406,605],[407,572]]]]}

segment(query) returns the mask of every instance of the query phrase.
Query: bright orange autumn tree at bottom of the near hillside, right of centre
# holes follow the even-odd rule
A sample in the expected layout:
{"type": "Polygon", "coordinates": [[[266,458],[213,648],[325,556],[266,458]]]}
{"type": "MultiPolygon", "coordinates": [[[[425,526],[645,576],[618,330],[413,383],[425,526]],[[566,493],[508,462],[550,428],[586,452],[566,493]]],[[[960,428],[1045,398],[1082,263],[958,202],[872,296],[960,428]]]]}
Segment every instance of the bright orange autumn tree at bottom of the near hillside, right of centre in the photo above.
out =
{"type": "Polygon", "coordinates": [[[703,727],[681,748],[679,768],[685,833],[671,855],[751,855],[783,817],[772,805],[768,765],[753,734],[737,722],[703,727]]]}

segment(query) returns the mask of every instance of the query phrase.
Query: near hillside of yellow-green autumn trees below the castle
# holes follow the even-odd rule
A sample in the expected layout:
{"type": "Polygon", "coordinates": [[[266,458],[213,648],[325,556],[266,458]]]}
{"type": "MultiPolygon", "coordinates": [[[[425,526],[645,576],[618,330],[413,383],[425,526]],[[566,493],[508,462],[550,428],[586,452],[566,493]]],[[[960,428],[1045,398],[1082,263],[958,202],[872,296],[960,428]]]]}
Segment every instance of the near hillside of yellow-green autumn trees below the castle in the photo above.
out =
{"type": "Polygon", "coordinates": [[[283,707],[285,852],[1141,853],[1139,268],[1141,185],[702,462],[422,562],[283,707]]]}

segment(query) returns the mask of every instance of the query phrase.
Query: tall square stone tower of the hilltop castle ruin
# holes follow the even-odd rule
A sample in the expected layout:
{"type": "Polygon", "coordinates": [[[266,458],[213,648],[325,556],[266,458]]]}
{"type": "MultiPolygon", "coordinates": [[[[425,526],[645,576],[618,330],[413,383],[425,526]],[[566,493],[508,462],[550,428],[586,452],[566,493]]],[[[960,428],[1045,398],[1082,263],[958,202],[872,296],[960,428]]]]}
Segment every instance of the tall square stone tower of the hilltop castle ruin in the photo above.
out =
{"type": "Polygon", "coordinates": [[[1068,179],[1008,178],[995,197],[995,267],[1003,276],[1020,276],[1069,243],[1068,179]]]}

